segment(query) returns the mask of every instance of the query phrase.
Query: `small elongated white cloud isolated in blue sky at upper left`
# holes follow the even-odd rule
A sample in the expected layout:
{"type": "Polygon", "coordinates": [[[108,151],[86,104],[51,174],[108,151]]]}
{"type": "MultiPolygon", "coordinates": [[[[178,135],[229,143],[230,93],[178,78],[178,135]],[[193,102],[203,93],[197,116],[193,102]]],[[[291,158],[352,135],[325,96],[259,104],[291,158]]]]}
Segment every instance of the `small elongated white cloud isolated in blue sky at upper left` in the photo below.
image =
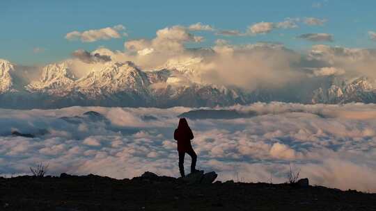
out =
{"type": "MultiPolygon", "coordinates": [[[[112,38],[120,38],[120,31],[124,31],[125,26],[116,25],[113,27],[91,29],[88,31],[72,31],[65,35],[67,40],[81,40],[82,42],[95,42],[97,40],[110,40],[112,38]]],[[[123,34],[124,35],[124,34],[123,34]]]]}

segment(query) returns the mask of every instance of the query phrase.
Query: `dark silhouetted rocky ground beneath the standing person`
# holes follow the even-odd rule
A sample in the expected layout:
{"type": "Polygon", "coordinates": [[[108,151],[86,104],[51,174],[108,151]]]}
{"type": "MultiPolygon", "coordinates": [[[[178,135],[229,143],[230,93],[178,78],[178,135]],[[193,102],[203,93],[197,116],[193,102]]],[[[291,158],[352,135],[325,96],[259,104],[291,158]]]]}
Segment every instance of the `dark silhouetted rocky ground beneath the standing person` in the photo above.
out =
{"type": "Polygon", "coordinates": [[[0,210],[376,210],[376,194],[327,187],[182,180],[152,173],[0,178],[0,210]]]}

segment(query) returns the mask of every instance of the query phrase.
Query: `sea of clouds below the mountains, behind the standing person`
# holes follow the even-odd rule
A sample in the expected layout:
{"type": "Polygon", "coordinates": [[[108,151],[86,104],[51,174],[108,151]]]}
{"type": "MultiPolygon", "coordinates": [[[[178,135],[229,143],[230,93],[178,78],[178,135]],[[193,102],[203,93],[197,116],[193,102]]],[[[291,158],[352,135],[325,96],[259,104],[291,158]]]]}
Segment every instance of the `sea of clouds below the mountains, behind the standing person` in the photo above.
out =
{"type": "MultiPolygon", "coordinates": [[[[217,171],[218,180],[283,183],[292,167],[313,185],[376,192],[375,104],[273,102],[218,109],[244,118],[188,119],[198,169],[217,171]]],[[[190,110],[0,109],[0,175],[30,174],[29,167],[43,163],[52,175],[178,176],[173,131],[178,115],[190,110]],[[84,115],[88,111],[100,115],[84,115]],[[15,130],[36,137],[10,135],[15,130]]],[[[187,156],[187,170],[189,163],[187,156]]]]}

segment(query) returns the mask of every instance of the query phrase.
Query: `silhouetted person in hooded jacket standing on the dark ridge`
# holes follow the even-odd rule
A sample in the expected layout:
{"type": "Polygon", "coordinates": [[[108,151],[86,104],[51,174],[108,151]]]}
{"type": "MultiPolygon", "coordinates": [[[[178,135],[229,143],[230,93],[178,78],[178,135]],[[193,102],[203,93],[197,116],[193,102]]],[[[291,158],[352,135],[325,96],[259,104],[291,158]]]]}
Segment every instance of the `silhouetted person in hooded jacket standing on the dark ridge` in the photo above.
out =
{"type": "Polygon", "coordinates": [[[196,170],[197,155],[191,145],[191,140],[194,139],[191,128],[189,128],[187,119],[180,118],[178,128],[173,133],[173,138],[178,141],[178,153],[179,153],[179,171],[182,177],[185,177],[184,172],[184,157],[185,153],[191,156],[191,173],[196,170]]]}

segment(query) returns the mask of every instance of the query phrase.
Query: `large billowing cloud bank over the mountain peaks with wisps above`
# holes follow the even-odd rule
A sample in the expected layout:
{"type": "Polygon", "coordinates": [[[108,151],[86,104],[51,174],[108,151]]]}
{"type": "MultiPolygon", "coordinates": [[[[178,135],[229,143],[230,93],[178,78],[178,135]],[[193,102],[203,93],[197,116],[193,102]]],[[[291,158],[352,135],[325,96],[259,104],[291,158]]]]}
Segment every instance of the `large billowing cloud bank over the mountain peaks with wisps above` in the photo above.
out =
{"type": "MultiPolygon", "coordinates": [[[[285,21],[298,23],[300,19],[285,21]]],[[[273,26],[277,28],[274,23],[273,26]]],[[[152,85],[155,90],[169,85],[185,87],[193,83],[219,87],[230,85],[249,92],[260,87],[275,90],[285,85],[298,84],[307,78],[312,80],[314,77],[311,76],[329,76],[330,73],[349,80],[361,76],[376,78],[371,71],[376,66],[376,51],[373,49],[315,45],[311,51],[301,53],[279,43],[235,45],[224,40],[219,40],[213,47],[191,49],[186,45],[201,42],[203,37],[194,35],[187,28],[166,27],[158,30],[152,39],[128,40],[125,42],[125,51],[111,51],[101,47],[91,53],[82,50],[75,52],[75,58],[79,58],[80,62],[76,62],[78,65],[72,69],[75,70],[75,76],[81,77],[87,74],[86,70],[100,69],[101,64],[97,61],[132,61],[147,71],[164,68],[180,71],[180,74],[171,75],[166,83],[152,85]],[[329,67],[331,69],[325,69],[329,67]]],[[[233,33],[249,35],[250,32],[233,33]]],[[[333,40],[332,35],[324,33],[299,37],[312,42],[333,40]]]]}

